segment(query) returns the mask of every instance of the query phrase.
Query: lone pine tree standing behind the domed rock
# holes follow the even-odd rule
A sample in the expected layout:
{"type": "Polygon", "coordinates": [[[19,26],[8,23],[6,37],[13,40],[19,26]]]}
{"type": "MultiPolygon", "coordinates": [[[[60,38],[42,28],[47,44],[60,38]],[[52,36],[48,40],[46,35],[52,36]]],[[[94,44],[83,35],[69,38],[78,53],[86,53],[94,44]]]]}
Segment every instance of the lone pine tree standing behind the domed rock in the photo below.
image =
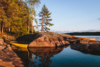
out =
{"type": "Polygon", "coordinates": [[[39,13],[39,16],[42,17],[42,19],[40,19],[41,32],[47,32],[50,30],[50,28],[48,28],[47,26],[53,26],[53,24],[50,23],[50,21],[52,21],[52,19],[50,19],[50,15],[51,13],[47,9],[47,7],[43,5],[42,11],[39,13]]]}

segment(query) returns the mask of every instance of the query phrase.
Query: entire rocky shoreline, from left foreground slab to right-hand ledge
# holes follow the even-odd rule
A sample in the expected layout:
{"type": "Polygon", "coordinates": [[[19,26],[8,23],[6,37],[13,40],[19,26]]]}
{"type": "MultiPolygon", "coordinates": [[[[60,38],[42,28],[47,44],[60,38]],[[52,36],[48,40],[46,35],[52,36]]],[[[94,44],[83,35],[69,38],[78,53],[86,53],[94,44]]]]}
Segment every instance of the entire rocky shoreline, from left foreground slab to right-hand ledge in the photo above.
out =
{"type": "MultiPolygon", "coordinates": [[[[63,47],[70,45],[72,49],[81,50],[82,52],[84,50],[86,52],[100,52],[100,41],[73,39],[70,35],[66,34],[44,32],[23,36],[18,39],[6,35],[3,37],[10,38],[9,40],[16,40],[19,43],[27,43],[29,44],[28,47],[63,47]]],[[[5,43],[0,38],[0,67],[25,67],[24,62],[21,61],[21,58],[17,56],[13,49],[17,48],[5,43]]]]}

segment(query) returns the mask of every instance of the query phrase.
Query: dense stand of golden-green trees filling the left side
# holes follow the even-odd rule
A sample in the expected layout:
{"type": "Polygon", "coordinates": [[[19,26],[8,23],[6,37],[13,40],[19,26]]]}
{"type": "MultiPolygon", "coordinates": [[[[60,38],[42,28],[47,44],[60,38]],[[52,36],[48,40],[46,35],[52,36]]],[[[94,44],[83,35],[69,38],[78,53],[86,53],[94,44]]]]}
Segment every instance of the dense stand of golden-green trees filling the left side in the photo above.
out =
{"type": "Polygon", "coordinates": [[[34,5],[39,3],[40,0],[0,0],[0,33],[33,33],[34,5]]]}

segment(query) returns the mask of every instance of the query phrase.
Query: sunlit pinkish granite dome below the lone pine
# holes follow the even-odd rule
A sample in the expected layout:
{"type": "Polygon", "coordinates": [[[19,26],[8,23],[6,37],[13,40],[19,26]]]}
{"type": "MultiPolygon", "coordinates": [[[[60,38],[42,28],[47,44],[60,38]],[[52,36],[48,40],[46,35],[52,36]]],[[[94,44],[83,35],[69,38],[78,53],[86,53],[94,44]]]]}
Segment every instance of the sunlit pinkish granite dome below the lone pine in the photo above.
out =
{"type": "Polygon", "coordinates": [[[65,44],[69,44],[66,41],[63,34],[55,34],[55,33],[40,33],[41,35],[37,39],[33,40],[28,47],[56,47],[56,46],[64,46],[65,44]],[[63,36],[62,36],[63,35],[63,36]]]}

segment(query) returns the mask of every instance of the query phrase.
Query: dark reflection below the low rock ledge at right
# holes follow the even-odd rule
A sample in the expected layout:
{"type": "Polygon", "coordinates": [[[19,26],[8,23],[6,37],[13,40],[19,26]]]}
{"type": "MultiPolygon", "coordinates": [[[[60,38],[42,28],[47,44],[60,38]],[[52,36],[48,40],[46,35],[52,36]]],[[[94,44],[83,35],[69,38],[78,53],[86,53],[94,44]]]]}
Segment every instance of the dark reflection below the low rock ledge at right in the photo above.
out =
{"type": "Polygon", "coordinates": [[[85,54],[100,55],[99,44],[73,44],[70,45],[71,49],[81,51],[85,54]]]}

